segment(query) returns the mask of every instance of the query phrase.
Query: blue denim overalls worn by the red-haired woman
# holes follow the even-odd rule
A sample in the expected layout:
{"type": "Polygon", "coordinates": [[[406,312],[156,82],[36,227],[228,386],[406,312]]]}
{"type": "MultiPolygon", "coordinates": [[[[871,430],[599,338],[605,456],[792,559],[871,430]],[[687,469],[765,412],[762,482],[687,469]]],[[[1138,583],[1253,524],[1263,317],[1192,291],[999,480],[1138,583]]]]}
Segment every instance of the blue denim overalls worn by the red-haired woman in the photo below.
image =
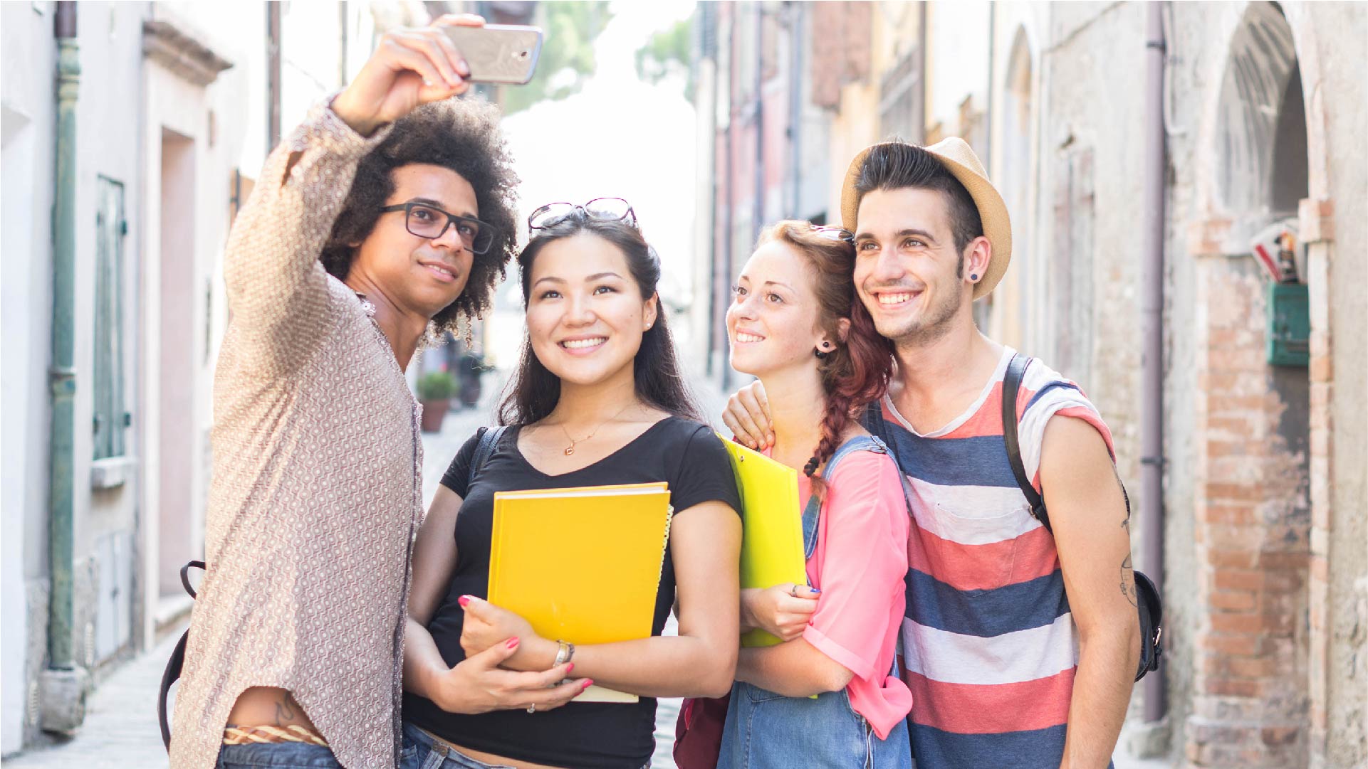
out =
{"type": "MultiPolygon", "coordinates": [[[[826,460],[822,475],[852,451],[888,453],[873,436],[854,437],[826,460]]],[[[902,473],[899,473],[902,475],[902,473]]],[[[906,489],[906,482],[904,482],[906,489]]],[[[803,556],[817,549],[817,523],[822,509],[817,497],[803,508],[803,556]]],[[[895,657],[893,672],[897,675],[895,657]]],[[[851,709],[850,695],[828,691],[810,697],[784,697],[758,686],[736,682],[722,728],[722,753],[717,769],[860,768],[911,769],[912,749],[907,720],[878,739],[863,716],[851,709]]]]}

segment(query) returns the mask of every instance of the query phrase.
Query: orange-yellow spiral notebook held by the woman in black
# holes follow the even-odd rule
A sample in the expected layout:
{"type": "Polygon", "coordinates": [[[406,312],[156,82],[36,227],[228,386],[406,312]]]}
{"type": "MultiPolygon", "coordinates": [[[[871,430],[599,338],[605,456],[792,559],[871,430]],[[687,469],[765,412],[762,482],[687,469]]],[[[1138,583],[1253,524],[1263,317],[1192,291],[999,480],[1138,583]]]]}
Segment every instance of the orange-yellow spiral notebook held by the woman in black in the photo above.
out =
{"type": "MultiPolygon", "coordinates": [[[[670,531],[663,482],[494,494],[490,602],[542,638],[650,638],[670,531]]],[[[575,702],[636,702],[591,686],[575,702]]]]}

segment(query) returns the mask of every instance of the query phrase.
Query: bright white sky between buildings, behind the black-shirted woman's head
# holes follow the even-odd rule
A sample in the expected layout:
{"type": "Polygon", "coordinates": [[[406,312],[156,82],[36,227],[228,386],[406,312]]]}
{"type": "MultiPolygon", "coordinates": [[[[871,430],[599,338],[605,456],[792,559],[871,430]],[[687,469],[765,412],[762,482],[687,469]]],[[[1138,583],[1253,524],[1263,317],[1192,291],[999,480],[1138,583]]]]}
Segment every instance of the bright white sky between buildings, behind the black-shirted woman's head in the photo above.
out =
{"type": "MultiPolygon", "coordinates": [[[[694,255],[694,105],[684,98],[683,79],[642,82],[633,55],[653,33],[688,18],[694,1],[617,0],[611,11],[595,42],[598,70],[579,93],[503,119],[523,179],[518,239],[525,242],[527,214],[542,204],[625,198],[661,254],[662,298],[679,303],[688,299],[694,255]]],[[[509,270],[490,328],[499,365],[510,363],[499,352],[510,350],[509,344],[516,348],[523,333],[516,272],[509,270]]]]}

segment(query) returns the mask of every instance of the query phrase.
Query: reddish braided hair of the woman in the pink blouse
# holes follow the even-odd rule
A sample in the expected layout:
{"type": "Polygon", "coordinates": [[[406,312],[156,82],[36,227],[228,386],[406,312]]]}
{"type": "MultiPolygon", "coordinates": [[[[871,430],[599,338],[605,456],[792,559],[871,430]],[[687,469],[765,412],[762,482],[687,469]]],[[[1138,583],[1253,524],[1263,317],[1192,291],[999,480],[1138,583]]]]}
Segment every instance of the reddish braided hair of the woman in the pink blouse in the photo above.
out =
{"type": "Polygon", "coordinates": [[[780,242],[803,255],[813,269],[817,294],[817,326],[836,341],[817,370],[822,377],[822,438],[807,460],[803,473],[813,479],[813,490],[822,494],[825,484],[818,467],[836,453],[841,433],[855,421],[856,410],[888,391],[893,373],[893,343],[874,329],[874,318],[855,294],[855,247],[844,240],[818,235],[806,221],[778,221],[761,232],[757,247],[780,242]],[[841,339],[840,321],[851,326],[841,339]]]}

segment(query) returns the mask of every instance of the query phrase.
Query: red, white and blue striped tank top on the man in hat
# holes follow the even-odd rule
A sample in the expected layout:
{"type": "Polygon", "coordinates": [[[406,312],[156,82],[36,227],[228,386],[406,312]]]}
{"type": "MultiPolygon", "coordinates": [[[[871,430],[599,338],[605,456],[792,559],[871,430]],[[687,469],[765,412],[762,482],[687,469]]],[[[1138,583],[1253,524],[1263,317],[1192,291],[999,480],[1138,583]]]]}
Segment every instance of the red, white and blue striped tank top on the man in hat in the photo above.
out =
{"type": "MultiPolygon", "coordinates": [[[[918,769],[1059,766],[1078,667],[1055,540],[1030,514],[1003,445],[1004,348],[963,414],[918,433],[882,402],[884,436],[911,482],[903,671],[918,769]]],[[[1031,361],[1016,415],[1026,473],[1040,489],[1045,423],[1077,417],[1111,432],[1077,384],[1031,361]]]]}

